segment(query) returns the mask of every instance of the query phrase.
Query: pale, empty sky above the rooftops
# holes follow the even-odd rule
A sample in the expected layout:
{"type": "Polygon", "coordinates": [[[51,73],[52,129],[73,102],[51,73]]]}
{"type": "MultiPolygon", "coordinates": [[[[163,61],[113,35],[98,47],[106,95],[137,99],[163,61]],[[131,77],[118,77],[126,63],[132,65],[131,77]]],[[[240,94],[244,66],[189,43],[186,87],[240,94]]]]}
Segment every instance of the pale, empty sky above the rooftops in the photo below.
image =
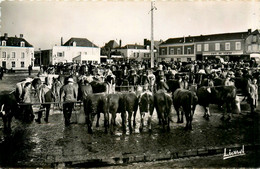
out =
{"type": "MultiPolygon", "coordinates": [[[[51,49],[71,37],[99,47],[110,40],[143,44],[151,39],[151,1],[3,1],[3,36],[23,34],[34,46],[51,49]]],[[[260,1],[155,1],[154,40],[260,29],[260,1]]]]}

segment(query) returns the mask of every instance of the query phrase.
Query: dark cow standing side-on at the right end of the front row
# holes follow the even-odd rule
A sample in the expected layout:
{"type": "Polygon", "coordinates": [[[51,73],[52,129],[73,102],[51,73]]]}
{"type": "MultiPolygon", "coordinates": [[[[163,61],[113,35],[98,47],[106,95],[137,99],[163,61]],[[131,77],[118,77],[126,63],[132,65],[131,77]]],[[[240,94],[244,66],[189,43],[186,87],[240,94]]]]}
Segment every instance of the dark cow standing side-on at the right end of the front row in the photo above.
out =
{"type": "Polygon", "coordinates": [[[237,91],[235,86],[203,86],[198,89],[197,96],[198,104],[204,108],[204,117],[207,120],[210,116],[208,111],[209,104],[217,104],[225,108],[221,119],[225,118],[225,112],[229,113],[227,120],[230,120],[232,110],[240,112],[240,104],[237,102],[237,91]]]}

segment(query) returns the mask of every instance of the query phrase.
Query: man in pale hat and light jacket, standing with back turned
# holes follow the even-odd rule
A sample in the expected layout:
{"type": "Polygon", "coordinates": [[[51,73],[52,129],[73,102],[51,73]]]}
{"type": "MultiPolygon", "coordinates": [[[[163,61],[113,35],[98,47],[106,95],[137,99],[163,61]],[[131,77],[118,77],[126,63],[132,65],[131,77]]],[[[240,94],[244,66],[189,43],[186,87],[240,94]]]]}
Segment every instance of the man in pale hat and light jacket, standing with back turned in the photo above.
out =
{"type": "Polygon", "coordinates": [[[61,88],[60,100],[63,103],[63,115],[65,119],[65,126],[70,125],[70,117],[74,107],[74,103],[77,101],[78,91],[73,85],[73,78],[68,79],[68,83],[61,88]]]}

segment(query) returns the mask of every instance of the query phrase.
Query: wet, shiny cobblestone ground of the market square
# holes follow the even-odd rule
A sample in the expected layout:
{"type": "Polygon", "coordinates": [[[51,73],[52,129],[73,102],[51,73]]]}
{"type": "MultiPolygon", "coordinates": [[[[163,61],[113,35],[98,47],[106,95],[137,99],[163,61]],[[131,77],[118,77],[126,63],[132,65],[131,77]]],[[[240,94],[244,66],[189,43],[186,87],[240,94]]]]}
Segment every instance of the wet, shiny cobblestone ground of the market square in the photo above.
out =
{"type": "MultiPolygon", "coordinates": [[[[15,82],[25,75],[7,75],[0,81],[1,91],[9,91],[15,82]]],[[[37,109],[37,108],[36,108],[37,109]]],[[[79,109],[79,107],[77,107],[79,109]]],[[[224,148],[246,148],[260,143],[259,110],[249,114],[248,105],[243,105],[241,114],[234,114],[230,122],[221,121],[221,110],[211,106],[210,120],[205,120],[199,106],[196,107],[193,130],[185,131],[177,124],[172,112],[170,132],[163,132],[157,115],[152,117],[152,133],[147,128],[139,133],[139,112],[133,134],[122,134],[120,115],[117,116],[115,135],[105,134],[101,127],[87,133],[83,111],[74,111],[73,124],[65,127],[62,112],[51,109],[49,123],[22,124],[13,120],[12,134],[3,134],[0,122],[0,165],[3,167],[54,167],[54,166],[103,166],[132,162],[175,159],[185,156],[207,154],[209,149],[223,153],[224,148]]],[[[102,115],[101,115],[102,117],[102,115]]],[[[145,118],[145,126],[147,116],[145,118]]],[[[251,147],[252,148],[252,147],[251,147]]],[[[258,146],[259,148],[259,146],[258,146]]],[[[247,151],[247,149],[245,149],[247,151]]]]}

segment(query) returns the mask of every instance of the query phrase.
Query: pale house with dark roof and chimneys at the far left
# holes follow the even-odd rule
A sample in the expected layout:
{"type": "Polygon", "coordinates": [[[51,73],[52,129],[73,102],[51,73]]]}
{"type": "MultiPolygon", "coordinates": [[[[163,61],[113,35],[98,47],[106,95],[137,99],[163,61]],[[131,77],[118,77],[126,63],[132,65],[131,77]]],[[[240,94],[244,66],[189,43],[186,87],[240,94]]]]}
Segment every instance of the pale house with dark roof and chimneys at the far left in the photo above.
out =
{"type": "Polygon", "coordinates": [[[24,38],[8,37],[5,33],[0,37],[0,66],[13,70],[28,70],[34,66],[34,48],[24,38]]]}

